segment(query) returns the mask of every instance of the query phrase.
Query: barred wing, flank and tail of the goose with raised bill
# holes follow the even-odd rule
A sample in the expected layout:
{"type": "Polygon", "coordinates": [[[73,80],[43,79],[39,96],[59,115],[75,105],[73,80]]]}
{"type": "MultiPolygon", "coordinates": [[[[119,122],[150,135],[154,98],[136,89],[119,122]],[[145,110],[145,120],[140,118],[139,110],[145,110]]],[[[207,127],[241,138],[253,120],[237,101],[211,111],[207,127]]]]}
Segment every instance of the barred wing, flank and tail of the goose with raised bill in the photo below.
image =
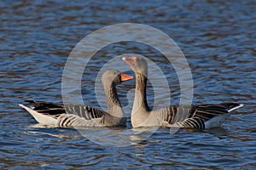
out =
{"type": "Polygon", "coordinates": [[[163,126],[204,129],[219,127],[229,116],[230,111],[240,108],[241,104],[223,103],[218,105],[170,106],[163,126]]]}

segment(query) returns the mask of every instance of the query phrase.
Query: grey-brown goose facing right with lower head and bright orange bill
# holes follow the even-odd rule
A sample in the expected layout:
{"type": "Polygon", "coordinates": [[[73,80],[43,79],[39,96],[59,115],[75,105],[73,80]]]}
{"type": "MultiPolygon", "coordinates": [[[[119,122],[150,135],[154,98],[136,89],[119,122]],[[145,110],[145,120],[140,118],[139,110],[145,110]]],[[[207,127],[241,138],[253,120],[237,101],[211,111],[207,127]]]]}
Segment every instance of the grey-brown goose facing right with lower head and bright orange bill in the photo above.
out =
{"type": "Polygon", "coordinates": [[[106,96],[108,111],[90,105],[57,105],[50,102],[26,100],[22,108],[28,111],[38,123],[55,127],[113,127],[125,126],[115,86],[133,77],[119,71],[109,70],[102,75],[102,86],[106,96]],[[29,107],[27,105],[32,105],[29,107]]]}

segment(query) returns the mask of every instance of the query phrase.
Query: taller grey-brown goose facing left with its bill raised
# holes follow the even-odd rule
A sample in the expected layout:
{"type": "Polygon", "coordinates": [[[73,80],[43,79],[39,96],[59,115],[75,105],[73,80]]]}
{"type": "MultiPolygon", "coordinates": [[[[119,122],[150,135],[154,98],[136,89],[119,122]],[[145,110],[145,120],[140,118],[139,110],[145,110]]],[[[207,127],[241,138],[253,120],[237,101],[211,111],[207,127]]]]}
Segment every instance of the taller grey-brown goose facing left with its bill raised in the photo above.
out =
{"type": "Polygon", "coordinates": [[[241,104],[222,103],[218,105],[170,105],[150,111],[146,98],[148,64],[143,57],[123,57],[136,76],[136,94],[131,110],[132,127],[179,127],[205,129],[220,127],[230,112],[241,104]]]}

